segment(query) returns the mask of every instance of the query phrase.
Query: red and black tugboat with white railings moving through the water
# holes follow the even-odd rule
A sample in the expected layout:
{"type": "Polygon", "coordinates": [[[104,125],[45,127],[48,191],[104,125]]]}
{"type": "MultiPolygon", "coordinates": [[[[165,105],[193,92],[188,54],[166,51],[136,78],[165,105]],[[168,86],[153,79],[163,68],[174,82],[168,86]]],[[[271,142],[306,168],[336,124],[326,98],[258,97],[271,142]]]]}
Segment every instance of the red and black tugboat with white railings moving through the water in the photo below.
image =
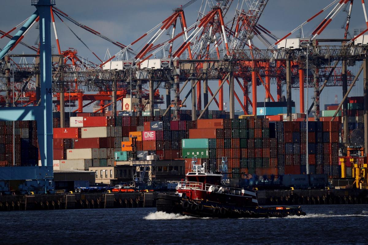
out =
{"type": "Polygon", "coordinates": [[[256,192],[222,184],[221,172],[207,173],[205,164],[192,161],[187,181],[178,182],[176,193],[159,193],[157,211],[193,217],[269,218],[305,215],[300,207],[260,207],[256,192]]]}

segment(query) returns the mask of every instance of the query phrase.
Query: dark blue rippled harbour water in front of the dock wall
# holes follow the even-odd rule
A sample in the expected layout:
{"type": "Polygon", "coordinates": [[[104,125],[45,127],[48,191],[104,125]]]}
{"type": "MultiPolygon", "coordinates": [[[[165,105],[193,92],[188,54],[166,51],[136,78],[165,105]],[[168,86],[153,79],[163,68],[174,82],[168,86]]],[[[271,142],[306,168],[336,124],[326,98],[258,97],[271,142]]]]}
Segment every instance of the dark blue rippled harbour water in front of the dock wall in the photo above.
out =
{"type": "Polygon", "coordinates": [[[302,206],[307,216],[199,219],[155,208],[1,212],[0,244],[368,244],[368,205],[302,206]]]}

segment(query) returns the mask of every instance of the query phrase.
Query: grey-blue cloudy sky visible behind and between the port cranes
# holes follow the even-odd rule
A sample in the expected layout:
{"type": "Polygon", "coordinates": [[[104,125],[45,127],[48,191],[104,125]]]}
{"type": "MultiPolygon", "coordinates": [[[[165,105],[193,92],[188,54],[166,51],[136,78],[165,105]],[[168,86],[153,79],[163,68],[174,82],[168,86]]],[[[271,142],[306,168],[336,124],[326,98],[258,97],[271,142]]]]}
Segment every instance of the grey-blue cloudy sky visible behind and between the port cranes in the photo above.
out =
{"type": "MultiPolygon", "coordinates": [[[[199,8],[201,6],[201,0],[197,0],[190,6],[184,9],[187,25],[192,25],[198,15],[199,8]]],[[[230,6],[229,13],[225,22],[233,17],[233,11],[238,1],[233,1],[230,6]]],[[[267,28],[278,38],[283,37],[305,20],[318,13],[322,8],[331,3],[332,0],[269,0],[261,18],[259,24],[267,28]]],[[[137,1],[121,1],[121,0],[56,0],[56,7],[67,13],[69,16],[77,20],[78,22],[89,26],[92,29],[102,33],[103,35],[117,40],[123,44],[130,44],[145,32],[152,29],[154,26],[162,22],[173,13],[173,8],[184,5],[187,1],[181,0],[137,0],[137,1]]],[[[29,0],[12,0],[2,1],[2,11],[0,17],[0,30],[8,31],[14,26],[18,25],[24,19],[28,18],[34,11],[35,7],[31,6],[29,0]]],[[[313,21],[309,22],[303,27],[304,36],[310,34],[319,22],[329,13],[332,8],[329,8],[321,15],[316,17],[313,21]]],[[[208,8],[206,9],[206,12],[208,8]]],[[[88,57],[89,60],[97,62],[98,60],[93,54],[68,30],[69,26],[86,45],[95,52],[102,60],[106,60],[105,57],[107,49],[111,55],[117,53],[120,49],[114,46],[112,43],[107,42],[77,27],[71,22],[65,21],[66,24],[60,21],[56,16],[56,28],[59,36],[61,50],[66,50],[70,47],[76,49],[78,54],[82,57],[88,57]],[[105,58],[104,58],[105,57],[105,58]]],[[[331,24],[326,28],[320,38],[343,38],[344,29],[341,28],[346,22],[346,11],[341,11],[331,24]]],[[[365,29],[365,21],[360,1],[354,1],[352,17],[350,19],[350,33],[353,36],[354,29],[365,29]]],[[[11,33],[14,35],[15,32],[11,33]]],[[[290,38],[295,38],[299,32],[295,32],[290,38]]],[[[23,42],[34,45],[37,40],[38,30],[33,28],[29,34],[22,40],[23,42]]],[[[167,38],[164,36],[163,38],[167,38]]],[[[52,32],[53,45],[56,45],[54,35],[52,32]]],[[[142,39],[142,42],[138,42],[133,46],[133,49],[139,51],[146,39],[142,39]]],[[[8,39],[0,39],[0,47],[3,48],[8,42],[8,39]]],[[[255,45],[260,49],[265,49],[258,40],[255,40],[255,45]]],[[[180,43],[176,44],[177,46],[180,43]]],[[[176,47],[177,47],[176,46],[176,47]]],[[[174,46],[175,47],[175,46],[174,46]]],[[[56,49],[55,49],[56,50],[56,49]]],[[[32,53],[26,47],[18,45],[12,53],[32,53]]],[[[360,64],[356,64],[354,67],[348,67],[353,74],[356,74],[360,64]]],[[[210,81],[209,86],[212,90],[216,90],[218,84],[217,81],[210,81]]],[[[185,95],[189,89],[185,88],[183,94],[185,95]]],[[[229,101],[228,86],[224,86],[224,101],[229,101]]],[[[241,96],[240,87],[236,84],[236,92],[241,96]]],[[[258,86],[258,101],[263,101],[264,89],[263,86],[258,86]]],[[[284,88],[285,90],[285,88],[284,88]]],[[[164,90],[160,90],[161,94],[164,94],[164,90]]],[[[273,97],[276,97],[276,85],[271,88],[273,97]]],[[[309,103],[311,103],[311,95],[313,89],[309,89],[309,103]]],[[[297,112],[299,111],[298,101],[299,92],[297,90],[292,91],[292,99],[297,102],[297,112]],[[297,92],[297,93],[296,93],[297,92]]],[[[320,96],[321,108],[323,104],[330,104],[335,102],[335,95],[340,102],[342,99],[342,89],[339,87],[325,88],[320,96]]],[[[359,77],[356,86],[350,93],[351,96],[362,96],[362,75],[359,77]]],[[[187,100],[187,107],[191,107],[190,97],[187,100]]],[[[203,101],[203,99],[202,99],[203,101]]],[[[204,106],[202,105],[202,108],[204,106]]],[[[227,106],[229,108],[229,106],[227,106]]],[[[163,106],[162,106],[163,108],[163,106]]],[[[213,102],[209,109],[215,110],[216,104],[213,102]]],[[[240,110],[241,107],[238,102],[235,102],[235,109],[240,110]]],[[[92,110],[92,108],[87,109],[92,110]]]]}

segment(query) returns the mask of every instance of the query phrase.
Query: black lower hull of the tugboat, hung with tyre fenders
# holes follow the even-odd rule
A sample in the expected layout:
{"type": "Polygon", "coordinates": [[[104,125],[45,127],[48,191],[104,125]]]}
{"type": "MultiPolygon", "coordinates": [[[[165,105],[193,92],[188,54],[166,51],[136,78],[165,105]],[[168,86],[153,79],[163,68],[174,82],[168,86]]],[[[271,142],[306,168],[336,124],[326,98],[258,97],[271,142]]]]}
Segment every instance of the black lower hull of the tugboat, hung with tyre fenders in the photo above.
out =
{"type": "Polygon", "coordinates": [[[193,200],[163,193],[158,194],[156,207],[158,211],[179,213],[193,217],[269,218],[305,215],[300,207],[240,207],[229,203],[222,204],[209,200],[193,200]]]}

